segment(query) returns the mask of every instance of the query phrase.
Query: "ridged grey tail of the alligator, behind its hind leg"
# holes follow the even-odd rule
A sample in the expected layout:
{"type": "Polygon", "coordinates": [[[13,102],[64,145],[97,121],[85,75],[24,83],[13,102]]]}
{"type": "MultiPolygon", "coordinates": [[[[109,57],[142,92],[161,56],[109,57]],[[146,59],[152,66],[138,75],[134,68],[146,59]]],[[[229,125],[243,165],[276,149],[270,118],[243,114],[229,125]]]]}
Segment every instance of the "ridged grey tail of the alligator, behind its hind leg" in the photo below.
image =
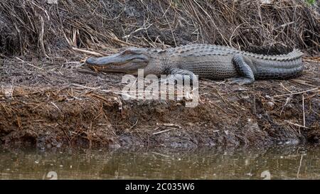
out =
{"type": "Polygon", "coordinates": [[[285,55],[248,55],[255,66],[256,79],[289,79],[301,75],[304,68],[303,53],[298,49],[285,55]]]}

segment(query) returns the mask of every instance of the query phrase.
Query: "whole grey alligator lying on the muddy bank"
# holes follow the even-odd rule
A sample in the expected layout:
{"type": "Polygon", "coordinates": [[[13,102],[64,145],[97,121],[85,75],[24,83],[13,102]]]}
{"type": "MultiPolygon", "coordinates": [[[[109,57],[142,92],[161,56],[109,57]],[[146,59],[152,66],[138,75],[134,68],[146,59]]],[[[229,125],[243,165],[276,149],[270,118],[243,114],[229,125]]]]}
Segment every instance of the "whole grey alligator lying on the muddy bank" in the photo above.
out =
{"type": "Polygon", "coordinates": [[[301,75],[302,54],[294,49],[283,55],[262,55],[222,45],[191,44],[166,50],[126,48],[114,55],[88,58],[85,64],[104,72],[137,75],[138,69],[144,69],[144,75],[172,75],[174,79],[190,80],[198,75],[200,79],[228,79],[231,84],[249,85],[255,80],[301,75]]]}

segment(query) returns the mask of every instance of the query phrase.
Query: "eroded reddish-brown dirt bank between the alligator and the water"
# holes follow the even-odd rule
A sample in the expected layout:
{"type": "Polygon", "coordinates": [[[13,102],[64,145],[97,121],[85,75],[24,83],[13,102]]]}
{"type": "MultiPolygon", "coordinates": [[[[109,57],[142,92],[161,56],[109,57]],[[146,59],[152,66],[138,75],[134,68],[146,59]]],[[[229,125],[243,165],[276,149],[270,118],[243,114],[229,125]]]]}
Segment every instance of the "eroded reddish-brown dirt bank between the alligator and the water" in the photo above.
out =
{"type": "Polygon", "coordinates": [[[320,64],[304,64],[293,80],[201,80],[198,106],[186,108],[184,101],[124,100],[122,75],[78,62],[1,60],[0,142],[46,149],[319,142],[320,64]]]}

